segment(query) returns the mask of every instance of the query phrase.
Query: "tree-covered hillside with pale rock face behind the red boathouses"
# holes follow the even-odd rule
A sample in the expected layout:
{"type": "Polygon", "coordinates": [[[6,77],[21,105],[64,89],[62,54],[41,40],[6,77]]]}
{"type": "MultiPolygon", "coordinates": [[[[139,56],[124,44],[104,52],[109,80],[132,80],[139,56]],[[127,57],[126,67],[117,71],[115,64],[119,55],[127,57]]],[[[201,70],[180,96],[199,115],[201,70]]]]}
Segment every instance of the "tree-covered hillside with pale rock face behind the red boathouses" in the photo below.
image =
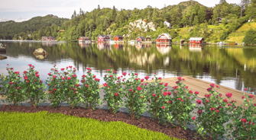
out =
{"type": "MultiPolygon", "coordinates": [[[[79,37],[96,40],[99,34],[111,34],[112,37],[122,35],[125,40],[134,40],[138,36],[156,39],[160,33],[170,33],[173,41],[204,37],[207,42],[218,42],[227,40],[231,33],[248,20],[256,21],[256,0],[241,0],[241,5],[220,0],[213,8],[207,8],[199,2],[190,0],[161,9],[148,5],[144,9],[119,11],[115,6],[100,8],[98,5],[98,8],[90,12],[80,8],[78,13],[73,12],[71,20],[63,20],[63,24],[60,22],[61,25],[51,24],[45,28],[41,27],[41,30],[33,30],[32,34],[34,40],[40,40],[46,35],[57,37],[57,40],[77,41],[79,37]],[[56,29],[65,31],[56,32],[56,29]]],[[[9,37],[17,39],[18,33],[20,32],[9,37]]]]}

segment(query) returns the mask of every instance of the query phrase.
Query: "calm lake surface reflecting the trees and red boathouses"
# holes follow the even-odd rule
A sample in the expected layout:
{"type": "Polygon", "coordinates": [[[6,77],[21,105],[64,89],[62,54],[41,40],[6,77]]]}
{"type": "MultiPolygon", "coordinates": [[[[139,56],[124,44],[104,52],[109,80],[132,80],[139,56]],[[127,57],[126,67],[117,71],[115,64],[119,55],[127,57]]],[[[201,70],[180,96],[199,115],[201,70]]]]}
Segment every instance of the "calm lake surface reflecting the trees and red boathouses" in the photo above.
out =
{"type": "Polygon", "coordinates": [[[41,75],[41,80],[45,81],[53,65],[57,68],[72,65],[77,68],[79,79],[90,67],[103,84],[105,69],[112,65],[118,75],[130,72],[131,68],[141,78],[145,75],[153,77],[154,72],[162,78],[187,75],[240,91],[247,87],[250,93],[256,93],[255,46],[0,42],[4,46],[6,44],[6,53],[0,53],[0,56],[7,56],[7,59],[0,60],[0,74],[4,75],[8,74],[7,64],[19,72],[24,72],[28,64],[32,64],[41,75]],[[33,52],[38,48],[44,48],[49,55],[45,58],[34,56],[33,52]]]}

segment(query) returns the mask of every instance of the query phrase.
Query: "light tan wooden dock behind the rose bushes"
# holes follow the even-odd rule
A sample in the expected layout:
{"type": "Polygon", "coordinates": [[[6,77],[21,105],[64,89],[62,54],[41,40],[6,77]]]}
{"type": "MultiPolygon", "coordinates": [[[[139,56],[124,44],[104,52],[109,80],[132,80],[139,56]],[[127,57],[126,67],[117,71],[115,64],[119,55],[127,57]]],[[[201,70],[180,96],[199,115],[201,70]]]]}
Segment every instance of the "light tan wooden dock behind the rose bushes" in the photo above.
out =
{"type": "MultiPolygon", "coordinates": [[[[208,91],[206,90],[207,88],[210,87],[209,84],[212,84],[211,82],[208,82],[208,81],[203,81],[203,80],[200,80],[200,79],[197,79],[197,78],[192,78],[190,76],[185,76],[185,77],[182,77],[185,79],[184,81],[184,84],[186,84],[186,86],[189,86],[189,90],[195,92],[195,91],[199,91],[199,94],[198,94],[198,97],[201,97],[201,98],[204,98],[204,95],[205,94],[208,94],[208,91]]],[[[168,83],[169,86],[173,87],[173,86],[176,86],[176,81],[178,81],[177,78],[164,78],[162,79],[162,81],[164,83],[168,83]]],[[[147,82],[152,82],[152,80],[150,81],[147,81],[147,82]]],[[[215,85],[219,85],[219,84],[215,84],[215,85]]],[[[102,87],[102,85],[100,85],[99,87],[102,87]]],[[[242,96],[242,91],[238,91],[238,90],[235,90],[235,89],[232,89],[230,87],[225,87],[225,86],[222,86],[222,85],[219,85],[219,93],[222,94],[222,97],[223,98],[226,98],[227,97],[225,96],[226,93],[232,93],[232,98],[231,100],[236,100],[237,101],[237,105],[241,105],[241,103],[243,103],[243,99],[241,99],[241,96],[242,96]]],[[[245,93],[247,95],[250,95],[248,93],[245,93]]],[[[2,98],[0,96],[0,98],[2,98]]],[[[255,98],[255,97],[254,97],[255,98]]],[[[256,103],[256,100],[253,100],[254,103],[256,103]]]]}

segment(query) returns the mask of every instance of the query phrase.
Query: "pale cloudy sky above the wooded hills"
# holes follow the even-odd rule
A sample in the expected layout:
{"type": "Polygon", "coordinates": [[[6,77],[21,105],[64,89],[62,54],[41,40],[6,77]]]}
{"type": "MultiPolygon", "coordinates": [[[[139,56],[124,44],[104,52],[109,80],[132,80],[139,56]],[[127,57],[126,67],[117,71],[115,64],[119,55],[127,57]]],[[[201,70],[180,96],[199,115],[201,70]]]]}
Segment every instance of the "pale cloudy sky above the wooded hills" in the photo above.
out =
{"type": "MultiPolygon", "coordinates": [[[[177,5],[187,0],[0,0],[0,21],[28,21],[37,16],[47,14],[59,18],[71,18],[73,11],[92,11],[94,8],[142,9],[147,5],[153,8],[164,8],[164,5],[177,5]]],[[[207,7],[214,7],[219,0],[196,0],[207,7]]],[[[226,0],[228,3],[239,4],[241,0],[226,0]]]]}

